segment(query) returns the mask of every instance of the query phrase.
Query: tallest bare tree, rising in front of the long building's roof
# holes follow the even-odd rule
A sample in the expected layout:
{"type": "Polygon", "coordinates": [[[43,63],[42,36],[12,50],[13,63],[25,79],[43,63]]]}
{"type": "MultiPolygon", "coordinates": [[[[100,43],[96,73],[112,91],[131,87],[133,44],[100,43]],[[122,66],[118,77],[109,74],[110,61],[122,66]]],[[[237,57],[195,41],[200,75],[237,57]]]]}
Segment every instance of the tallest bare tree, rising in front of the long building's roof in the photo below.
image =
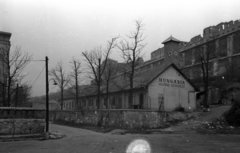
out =
{"type": "Polygon", "coordinates": [[[131,31],[130,35],[127,35],[128,40],[123,39],[118,46],[121,50],[122,58],[128,66],[125,74],[130,85],[130,105],[133,104],[133,82],[136,77],[135,69],[140,64],[140,59],[142,59],[143,56],[142,50],[146,46],[146,43],[143,43],[145,40],[145,37],[143,37],[143,27],[145,25],[142,23],[142,20],[135,20],[134,22],[136,25],[135,31],[131,31]]]}

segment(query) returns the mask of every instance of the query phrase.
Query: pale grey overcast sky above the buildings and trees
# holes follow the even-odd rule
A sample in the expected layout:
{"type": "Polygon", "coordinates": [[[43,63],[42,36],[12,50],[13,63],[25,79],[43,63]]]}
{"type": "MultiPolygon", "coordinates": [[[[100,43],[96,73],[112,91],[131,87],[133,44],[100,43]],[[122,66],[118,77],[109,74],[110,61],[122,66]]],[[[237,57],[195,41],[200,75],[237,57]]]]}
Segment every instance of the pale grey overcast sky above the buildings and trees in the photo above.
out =
{"type": "MultiPolygon", "coordinates": [[[[145,24],[146,61],[171,35],[190,41],[206,27],[239,20],[239,8],[239,0],[0,0],[0,31],[12,33],[12,51],[21,47],[33,60],[48,56],[49,69],[62,61],[68,73],[73,57],[84,67],[81,52],[104,48],[115,36],[126,38],[134,20],[145,24]]],[[[117,49],[110,57],[123,62],[117,49]]],[[[23,72],[23,82],[33,85],[32,96],[46,92],[44,66],[32,61],[23,72]]],[[[50,83],[50,92],[57,90],[50,83]]]]}

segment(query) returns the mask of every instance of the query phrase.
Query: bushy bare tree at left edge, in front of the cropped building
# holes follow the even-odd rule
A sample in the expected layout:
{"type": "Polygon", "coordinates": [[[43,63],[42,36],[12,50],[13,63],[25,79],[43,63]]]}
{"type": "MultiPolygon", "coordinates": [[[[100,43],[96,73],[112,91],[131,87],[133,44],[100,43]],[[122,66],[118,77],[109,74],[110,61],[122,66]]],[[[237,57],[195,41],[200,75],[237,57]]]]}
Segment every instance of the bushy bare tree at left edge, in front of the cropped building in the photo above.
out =
{"type": "Polygon", "coordinates": [[[21,47],[16,47],[14,51],[10,51],[10,47],[0,47],[0,63],[1,63],[1,96],[3,106],[10,106],[13,94],[16,90],[16,82],[20,82],[26,75],[22,72],[25,67],[29,64],[32,55],[28,52],[23,52],[21,47]]]}

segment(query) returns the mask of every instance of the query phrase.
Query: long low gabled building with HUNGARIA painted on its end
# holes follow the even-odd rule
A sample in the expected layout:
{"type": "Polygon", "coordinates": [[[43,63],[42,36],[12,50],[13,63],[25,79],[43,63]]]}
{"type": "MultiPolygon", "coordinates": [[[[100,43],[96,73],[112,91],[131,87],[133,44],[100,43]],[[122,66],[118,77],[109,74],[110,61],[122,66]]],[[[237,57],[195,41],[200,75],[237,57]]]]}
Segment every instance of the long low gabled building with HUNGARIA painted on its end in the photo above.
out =
{"type": "MultiPolygon", "coordinates": [[[[175,64],[143,70],[134,78],[133,102],[130,103],[129,83],[124,75],[114,78],[109,98],[103,91],[100,109],[153,109],[173,111],[196,108],[197,88],[175,64]]],[[[76,105],[82,109],[97,109],[97,94],[93,86],[82,89],[85,94],[76,105]],[[94,92],[93,92],[94,91],[94,92]]]]}

